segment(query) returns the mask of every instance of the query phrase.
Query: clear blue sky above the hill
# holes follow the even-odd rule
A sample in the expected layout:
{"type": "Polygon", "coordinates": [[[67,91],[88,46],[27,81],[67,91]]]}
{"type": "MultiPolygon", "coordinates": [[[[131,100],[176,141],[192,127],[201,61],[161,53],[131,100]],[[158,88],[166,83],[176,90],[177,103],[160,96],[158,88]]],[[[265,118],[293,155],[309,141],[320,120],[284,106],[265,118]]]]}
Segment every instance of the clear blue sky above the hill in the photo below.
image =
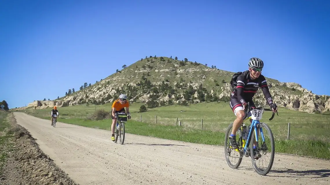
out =
{"type": "Polygon", "coordinates": [[[330,1],[0,1],[0,99],[10,108],[177,56],[330,95],[330,1]],[[328,11],[328,12],[327,12],[328,11]]]}

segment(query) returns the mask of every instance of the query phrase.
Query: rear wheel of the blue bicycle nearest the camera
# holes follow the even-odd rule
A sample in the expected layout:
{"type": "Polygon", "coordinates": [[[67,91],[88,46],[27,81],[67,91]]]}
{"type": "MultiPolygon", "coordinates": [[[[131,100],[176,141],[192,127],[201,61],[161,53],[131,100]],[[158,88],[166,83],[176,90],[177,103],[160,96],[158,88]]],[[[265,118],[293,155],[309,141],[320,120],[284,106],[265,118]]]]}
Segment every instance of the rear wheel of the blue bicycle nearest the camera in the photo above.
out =
{"type": "Polygon", "coordinates": [[[225,145],[224,145],[224,150],[225,150],[225,156],[226,156],[226,161],[227,164],[230,168],[236,169],[240,166],[242,162],[242,157],[243,157],[243,150],[242,147],[242,130],[239,128],[236,132],[236,141],[237,138],[239,138],[237,142],[237,147],[240,149],[232,149],[229,144],[229,135],[231,134],[231,130],[233,128],[233,123],[231,123],[226,131],[226,136],[225,136],[225,145]],[[232,158],[232,159],[230,159],[232,158]]]}

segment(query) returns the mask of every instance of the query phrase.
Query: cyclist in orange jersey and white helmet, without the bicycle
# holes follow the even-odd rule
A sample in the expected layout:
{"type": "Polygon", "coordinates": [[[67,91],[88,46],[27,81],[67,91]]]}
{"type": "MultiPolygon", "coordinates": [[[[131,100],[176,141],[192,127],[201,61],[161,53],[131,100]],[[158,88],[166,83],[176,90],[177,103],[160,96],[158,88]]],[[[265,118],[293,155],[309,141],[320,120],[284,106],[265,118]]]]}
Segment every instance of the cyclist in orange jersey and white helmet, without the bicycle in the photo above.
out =
{"type": "Polygon", "coordinates": [[[128,114],[127,118],[130,119],[131,116],[129,115],[129,102],[126,100],[127,96],[125,94],[120,94],[119,98],[114,101],[111,106],[111,118],[112,118],[112,125],[111,125],[111,140],[115,141],[115,125],[117,122],[116,112],[123,112],[128,114]],[[126,111],[125,108],[126,107],[126,111]]]}

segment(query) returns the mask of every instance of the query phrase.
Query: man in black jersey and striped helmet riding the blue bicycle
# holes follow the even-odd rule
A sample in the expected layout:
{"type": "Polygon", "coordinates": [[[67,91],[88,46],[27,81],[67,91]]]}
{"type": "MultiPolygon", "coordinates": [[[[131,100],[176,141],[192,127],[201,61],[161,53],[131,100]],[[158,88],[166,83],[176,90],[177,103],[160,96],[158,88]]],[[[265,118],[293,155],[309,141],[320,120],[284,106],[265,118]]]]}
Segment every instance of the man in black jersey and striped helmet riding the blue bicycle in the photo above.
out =
{"type": "MultiPolygon", "coordinates": [[[[234,120],[233,129],[229,136],[230,145],[234,149],[237,148],[236,132],[243,123],[245,107],[248,105],[248,102],[250,102],[250,106],[255,107],[252,98],[258,88],[261,88],[263,94],[265,95],[266,101],[273,112],[276,112],[278,109],[277,106],[273,104],[273,98],[269,92],[267,81],[265,77],[261,75],[264,62],[259,58],[253,57],[249,60],[248,66],[248,70],[238,76],[237,87],[230,95],[229,104],[237,117],[234,120]]],[[[251,119],[250,122],[252,122],[251,119]]],[[[254,156],[256,158],[261,157],[259,151],[254,151],[254,156]]]]}

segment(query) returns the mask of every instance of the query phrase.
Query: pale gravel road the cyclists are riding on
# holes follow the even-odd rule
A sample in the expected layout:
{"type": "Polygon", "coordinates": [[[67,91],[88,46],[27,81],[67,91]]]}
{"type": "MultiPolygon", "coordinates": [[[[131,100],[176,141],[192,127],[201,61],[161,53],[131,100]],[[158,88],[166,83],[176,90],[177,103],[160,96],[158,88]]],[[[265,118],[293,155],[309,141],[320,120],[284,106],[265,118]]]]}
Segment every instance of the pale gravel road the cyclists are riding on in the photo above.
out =
{"type": "Polygon", "coordinates": [[[56,165],[81,185],[330,184],[329,160],[276,154],[272,171],[260,176],[250,158],[244,157],[238,170],[229,168],[221,146],[132,134],[120,145],[110,140],[108,130],[61,122],[53,128],[50,120],[14,115],[56,165]]]}

